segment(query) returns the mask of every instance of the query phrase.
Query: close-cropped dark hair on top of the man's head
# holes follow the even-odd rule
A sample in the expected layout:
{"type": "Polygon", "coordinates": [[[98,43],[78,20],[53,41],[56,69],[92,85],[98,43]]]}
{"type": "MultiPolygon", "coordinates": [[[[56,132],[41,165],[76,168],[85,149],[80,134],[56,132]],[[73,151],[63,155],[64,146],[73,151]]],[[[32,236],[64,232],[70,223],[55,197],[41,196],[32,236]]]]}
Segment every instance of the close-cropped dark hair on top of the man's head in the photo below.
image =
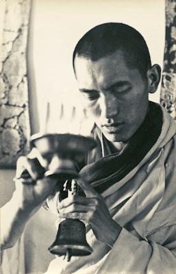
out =
{"type": "Polygon", "coordinates": [[[123,23],[104,23],[90,29],[73,52],[74,71],[75,57],[97,61],[115,51],[123,52],[127,66],[138,69],[146,77],[151,66],[147,44],[136,29],[123,23]]]}

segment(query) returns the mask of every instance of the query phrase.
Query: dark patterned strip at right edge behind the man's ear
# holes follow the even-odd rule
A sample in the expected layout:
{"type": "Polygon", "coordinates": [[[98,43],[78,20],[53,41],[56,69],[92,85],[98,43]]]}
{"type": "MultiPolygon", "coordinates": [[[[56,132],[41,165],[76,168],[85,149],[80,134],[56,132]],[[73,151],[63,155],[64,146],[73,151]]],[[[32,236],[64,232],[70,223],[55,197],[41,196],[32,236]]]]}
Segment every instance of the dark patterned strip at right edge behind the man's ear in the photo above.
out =
{"type": "Polygon", "coordinates": [[[166,41],[160,103],[176,120],[176,1],[166,0],[166,41]]]}

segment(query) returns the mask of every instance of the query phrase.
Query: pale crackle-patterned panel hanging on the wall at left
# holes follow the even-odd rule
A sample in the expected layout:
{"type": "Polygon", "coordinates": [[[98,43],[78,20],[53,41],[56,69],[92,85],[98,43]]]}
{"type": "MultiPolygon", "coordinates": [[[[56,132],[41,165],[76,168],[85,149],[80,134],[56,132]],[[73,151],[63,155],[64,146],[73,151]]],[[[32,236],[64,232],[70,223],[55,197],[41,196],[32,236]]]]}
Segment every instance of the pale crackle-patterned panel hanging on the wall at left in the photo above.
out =
{"type": "Polygon", "coordinates": [[[5,2],[0,59],[0,166],[14,167],[29,149],[27,32],[30,0],[5,2]]]}

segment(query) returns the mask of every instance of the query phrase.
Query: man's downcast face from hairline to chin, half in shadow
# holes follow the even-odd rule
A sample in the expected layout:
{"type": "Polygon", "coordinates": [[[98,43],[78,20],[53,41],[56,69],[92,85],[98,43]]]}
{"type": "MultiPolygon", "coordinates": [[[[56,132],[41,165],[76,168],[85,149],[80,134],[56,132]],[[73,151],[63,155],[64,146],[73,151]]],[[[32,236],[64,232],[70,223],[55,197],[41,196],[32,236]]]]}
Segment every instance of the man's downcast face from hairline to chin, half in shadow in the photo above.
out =
{"type": "Polygon", "coordinates": [[[76,57],[75,71],[85,106],[103,135],[127,142],[147,114],[148,79],[127,67],[121,51],[95,62],[76,57]]]}

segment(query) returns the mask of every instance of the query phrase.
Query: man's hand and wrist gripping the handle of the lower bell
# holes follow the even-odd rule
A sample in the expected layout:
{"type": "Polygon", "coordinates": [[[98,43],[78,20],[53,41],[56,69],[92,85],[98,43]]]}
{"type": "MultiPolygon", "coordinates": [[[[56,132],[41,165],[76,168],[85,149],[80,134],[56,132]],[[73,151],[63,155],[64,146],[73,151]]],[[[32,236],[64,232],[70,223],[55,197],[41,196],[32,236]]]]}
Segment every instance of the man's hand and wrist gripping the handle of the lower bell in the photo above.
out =
{"type": "Polygon", "coordinates": [[[60,217],[80,219],[89,223],[96,238],[112,247],[121,232],[120,225],[110,216],[103,197],[83,179],[77,182],[86,197],[73,196],[62,200],[58,208],[60,217]]]}

